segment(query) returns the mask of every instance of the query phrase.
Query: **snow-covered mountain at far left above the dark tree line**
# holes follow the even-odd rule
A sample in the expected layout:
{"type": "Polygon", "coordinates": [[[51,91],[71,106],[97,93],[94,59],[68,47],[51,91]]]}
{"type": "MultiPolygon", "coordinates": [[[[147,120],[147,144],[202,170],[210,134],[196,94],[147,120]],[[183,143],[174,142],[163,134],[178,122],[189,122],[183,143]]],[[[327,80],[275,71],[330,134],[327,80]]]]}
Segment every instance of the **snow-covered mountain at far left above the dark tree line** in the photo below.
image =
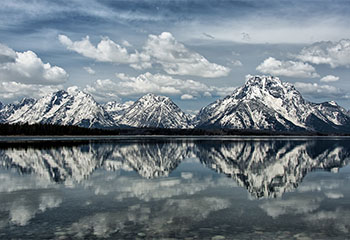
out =
{"type": "Polygon", "coordinates": [[[23,99],[1,110],[2,122],[112,127],[114,121],[94,98],[75,87],[48,94],[38,100],[23,99]]]}

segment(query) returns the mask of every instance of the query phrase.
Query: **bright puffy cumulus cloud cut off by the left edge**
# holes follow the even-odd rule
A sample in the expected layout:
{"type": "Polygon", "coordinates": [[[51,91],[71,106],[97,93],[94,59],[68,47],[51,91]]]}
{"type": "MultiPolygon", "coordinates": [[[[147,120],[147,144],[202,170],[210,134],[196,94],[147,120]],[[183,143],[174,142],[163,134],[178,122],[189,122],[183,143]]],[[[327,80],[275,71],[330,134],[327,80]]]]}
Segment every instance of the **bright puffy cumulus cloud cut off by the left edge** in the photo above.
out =
{"type": "Polygon", "coordinates": [[[15,52],[0,44],[0,81],[49,85],[64,83],[67,79],[63,68],[43,63],[34,52],[15,52]]]}

